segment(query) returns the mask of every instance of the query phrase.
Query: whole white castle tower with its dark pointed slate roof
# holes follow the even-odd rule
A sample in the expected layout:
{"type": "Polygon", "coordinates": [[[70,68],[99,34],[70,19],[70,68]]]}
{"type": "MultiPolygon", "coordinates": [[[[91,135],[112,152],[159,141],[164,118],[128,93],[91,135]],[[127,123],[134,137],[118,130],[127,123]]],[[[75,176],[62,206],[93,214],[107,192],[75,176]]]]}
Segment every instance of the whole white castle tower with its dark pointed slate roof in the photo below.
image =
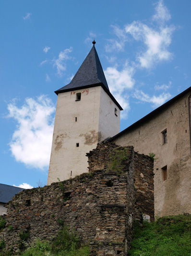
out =
{"type": "Polygon", "coordinates": [[[88,172],[85,154],[119,133],[120,107],[109,92],[95,48],[58,95],[48,185],[88,172]]]}

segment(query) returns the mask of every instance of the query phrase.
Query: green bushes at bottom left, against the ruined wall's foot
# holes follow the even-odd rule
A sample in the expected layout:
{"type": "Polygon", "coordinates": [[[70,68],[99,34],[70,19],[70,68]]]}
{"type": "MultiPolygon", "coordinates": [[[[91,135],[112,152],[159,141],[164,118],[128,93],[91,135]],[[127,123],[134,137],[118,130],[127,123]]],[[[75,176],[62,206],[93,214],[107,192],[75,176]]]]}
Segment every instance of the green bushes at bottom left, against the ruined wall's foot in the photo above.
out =
{"type": "Polygon", "coordinates": [[[74,231],[69,232],[63,221],[59,223],[62,229],[52,243],[36,241],[22,256],[89,256],[89,247],[80,247],[79,236],[74,231]]]}

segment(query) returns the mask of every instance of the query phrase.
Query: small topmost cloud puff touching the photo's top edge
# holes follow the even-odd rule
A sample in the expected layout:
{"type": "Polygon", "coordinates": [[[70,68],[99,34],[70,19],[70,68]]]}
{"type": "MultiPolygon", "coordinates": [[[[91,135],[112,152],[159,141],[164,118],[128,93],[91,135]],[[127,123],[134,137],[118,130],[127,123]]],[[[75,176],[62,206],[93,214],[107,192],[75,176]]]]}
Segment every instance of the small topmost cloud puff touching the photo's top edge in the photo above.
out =
{"type": "Polygon", "coordinates": [[[164,22],[171,19],[171,15],[164,5],[163,0],[159,0],[155,7],[155,15],[153,15],[153,20],[158,22],[164,22]]]}

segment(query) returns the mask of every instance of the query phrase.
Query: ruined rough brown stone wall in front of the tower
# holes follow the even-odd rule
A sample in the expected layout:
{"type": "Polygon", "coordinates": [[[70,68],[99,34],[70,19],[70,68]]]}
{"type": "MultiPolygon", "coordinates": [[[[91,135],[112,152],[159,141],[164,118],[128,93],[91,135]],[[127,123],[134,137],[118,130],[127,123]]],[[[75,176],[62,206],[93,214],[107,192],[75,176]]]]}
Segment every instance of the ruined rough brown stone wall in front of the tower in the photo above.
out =
{"type": "MultiPolygon", "coordinates": [[[[114,144],[101,143],[92,151],[94,153],[90,152],[89,164],[96,152],[100,154],[100,148],[102,154],[105,151],[105,155],[110,155],[115,147],[117,146],[114,144]]],[[[7,204],[7,224],[0,233],[0,240],[5,241],[6,249],[13,248],[13,253],[18,251],[21,232],[29,231],[29,244],[36,239],[53,240],[60,230],[58,220],[61,219],[66,226],[79,233],[82,244],[90,244],[91,256],[127,255],[133,235],[134,217],[138,216],[140,219],[145,207],[143,205],[143,209],[138,210],[137,202],[134,204],[137,179],[134,179],[135,166],[137,162],[145,165],[143,169],[147,170],[148,176],[143,172],[144,180],[149,184],[153,177],[153,162],[139,154],[134,157],[132,147],[126,150],[128,158],[123,162],[120,175],[115,171],[108,171],[106,167],[94,172],[90,168],[89,174],[44,188],[26,189],[17,194],[7,204]]],[[[101,155],[100,157],[104,162],[101,155]]],[[[152,187],[152,184],[151,182],[151,185],[145,186],[145,189],[152,187]]],[[[151,216],[154,215],[151,209],[148,212],[151,216]]]]}

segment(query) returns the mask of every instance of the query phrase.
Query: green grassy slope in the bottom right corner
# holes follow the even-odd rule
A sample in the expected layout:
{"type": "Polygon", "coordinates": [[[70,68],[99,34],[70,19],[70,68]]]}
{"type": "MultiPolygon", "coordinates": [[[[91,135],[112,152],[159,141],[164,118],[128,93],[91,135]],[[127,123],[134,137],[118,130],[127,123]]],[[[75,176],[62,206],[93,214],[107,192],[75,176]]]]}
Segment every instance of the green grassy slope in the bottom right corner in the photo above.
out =
{"type": "Polygon", "coordinates": [[[158,218],[135,226],[129,256],[191,256],[191,215],[158,218]]]}

